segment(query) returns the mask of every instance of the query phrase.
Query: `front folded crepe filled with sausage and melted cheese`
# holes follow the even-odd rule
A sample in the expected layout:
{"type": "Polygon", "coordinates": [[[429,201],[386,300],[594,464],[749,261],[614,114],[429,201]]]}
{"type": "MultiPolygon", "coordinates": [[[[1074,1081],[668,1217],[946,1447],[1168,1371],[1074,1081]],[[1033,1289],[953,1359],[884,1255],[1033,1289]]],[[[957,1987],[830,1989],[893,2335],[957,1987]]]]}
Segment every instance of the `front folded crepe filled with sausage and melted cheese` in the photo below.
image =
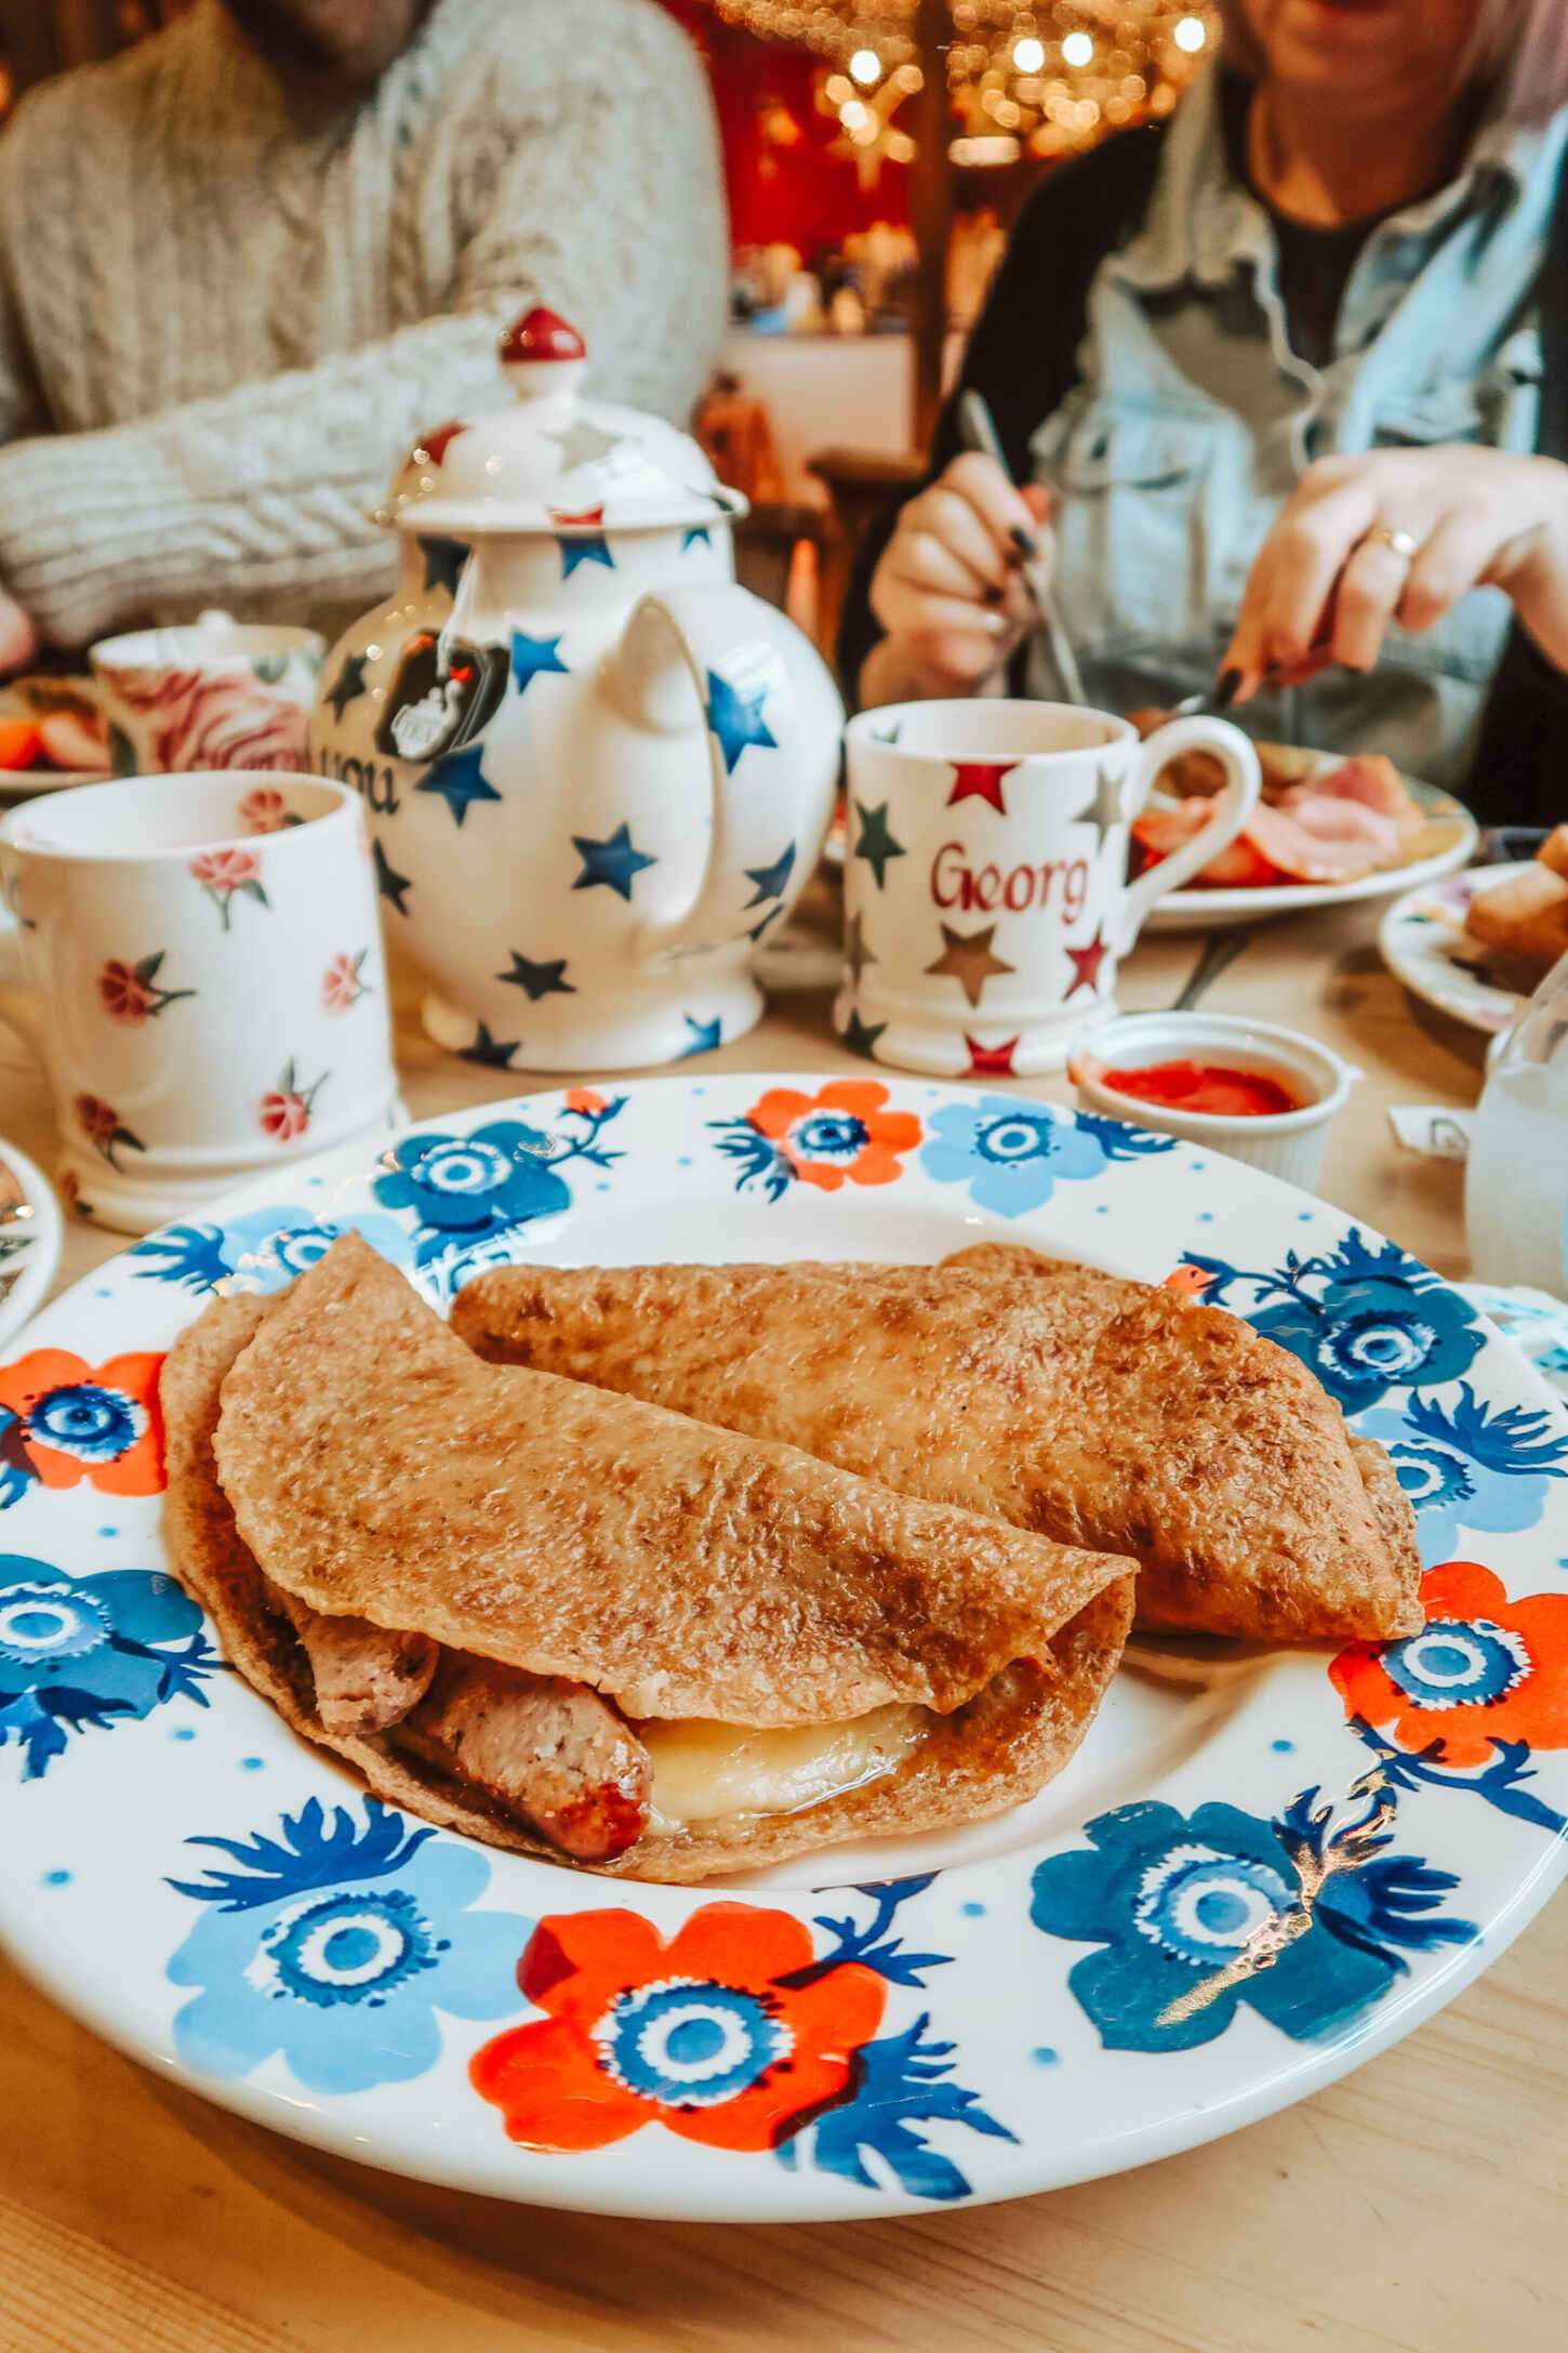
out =
{"type": "Polygon", "coordinates": [[[162,1407],[240,1673],[390,1802],[621,1875],[1011,1807],[1131,1621],[1114,1553],[487,1365],[353,1235],[214,1301],[162,1407]]]}

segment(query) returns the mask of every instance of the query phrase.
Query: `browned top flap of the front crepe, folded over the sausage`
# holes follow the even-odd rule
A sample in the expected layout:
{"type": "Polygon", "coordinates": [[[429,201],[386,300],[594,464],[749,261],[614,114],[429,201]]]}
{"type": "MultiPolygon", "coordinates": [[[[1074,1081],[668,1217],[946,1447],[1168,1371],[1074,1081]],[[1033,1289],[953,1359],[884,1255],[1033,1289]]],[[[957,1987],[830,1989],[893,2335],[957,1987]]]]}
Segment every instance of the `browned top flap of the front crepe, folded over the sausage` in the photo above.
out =
{"type": "Polygon", "coordinates": [[[590,1682],[630,1715],[947,1713],[1126,1567],[487,1365],[357,1235],[275,1299],[214,1447],[247,1546],[313,1609],[590,1682]]]}

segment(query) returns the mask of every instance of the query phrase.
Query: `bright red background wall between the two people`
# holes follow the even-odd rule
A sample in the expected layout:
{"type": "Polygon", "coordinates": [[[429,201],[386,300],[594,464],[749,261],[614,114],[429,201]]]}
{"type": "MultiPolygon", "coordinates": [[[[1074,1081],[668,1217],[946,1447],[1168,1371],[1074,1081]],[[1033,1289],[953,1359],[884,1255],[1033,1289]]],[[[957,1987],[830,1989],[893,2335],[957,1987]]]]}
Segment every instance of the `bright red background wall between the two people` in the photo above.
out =
{"type": "MultiPolygon", "coordinates": [[[[849,155],[832,155],[839,134],[830,115],[813,101],[818,59],[804,49],[785,49],[755,40],[722,24],[701,0],[663,0],[708,59],[712,94],[719,108],[724,141],[724,181],[729,188],[729,233],[733,245],[799,247],[813,252],[837,245],[872,221],[910,219],[907,169],[882,165],[872,188],[849,155]],[[766,113],[783,106],[802,136],[780,146],[764,134],[766,113]]],[[[649,104],[658,104],[649,92],[649,104]]]]}

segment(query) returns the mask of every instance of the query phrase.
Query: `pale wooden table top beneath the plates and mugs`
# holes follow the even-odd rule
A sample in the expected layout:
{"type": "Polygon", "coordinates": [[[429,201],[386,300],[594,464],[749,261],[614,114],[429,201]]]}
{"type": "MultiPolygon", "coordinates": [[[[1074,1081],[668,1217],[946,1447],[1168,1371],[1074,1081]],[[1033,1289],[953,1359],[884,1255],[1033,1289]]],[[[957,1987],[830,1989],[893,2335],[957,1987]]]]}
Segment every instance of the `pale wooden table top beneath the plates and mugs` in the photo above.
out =
{"type": "MultiPolygon", "coordinates": [[[[1293,918],[1206,1002],[1314,1031],[1366,1071],[1326,1193],[1462,1273],[1460,1172],[1399,1153],[1385,1106],[1472,1104],[1481,1045],[1410,1007],[1373,936],[1371,911],[1293,918]]],[[[1171,1002],[1197,951],[1145,941],[1124,1005],[1171,1002]]],[[[418,1035],[409,981],[400,1009],[416,1118],[517,1092],[418,1035]]],[[[710,1066],[851,1068],[811,988],[710,1066]]],[[[49,1162],[9,1033],[0,1134],[49,1162]]],[[[110,1247],[75,1231],[63,1278],[110,1247]]],[[[804,2228],[604,2221],[397,2181],[143,2073],[5,1965],[0,2005],[5,2353],[1556,2353],[1568,2327],[1563,1901],[1396,2049],[1225,2141],[1016,2205],[804,2228]]]]}

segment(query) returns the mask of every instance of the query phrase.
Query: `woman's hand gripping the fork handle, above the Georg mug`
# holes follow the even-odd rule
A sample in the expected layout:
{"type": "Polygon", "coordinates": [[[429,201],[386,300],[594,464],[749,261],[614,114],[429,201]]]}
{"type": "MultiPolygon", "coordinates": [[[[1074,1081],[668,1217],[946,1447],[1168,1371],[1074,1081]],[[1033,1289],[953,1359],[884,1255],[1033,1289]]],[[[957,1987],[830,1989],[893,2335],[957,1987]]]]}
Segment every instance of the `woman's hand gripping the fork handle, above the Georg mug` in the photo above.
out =
{"type": "Polygon", "coordinates": [[[976,454],[910,499],[872,574],[886,635],[860,671],[865,704],[976,694],[994,678],[1034,619],[1020,565],[1025,548],[1051,562],[1048,504],[976,454]]]}

